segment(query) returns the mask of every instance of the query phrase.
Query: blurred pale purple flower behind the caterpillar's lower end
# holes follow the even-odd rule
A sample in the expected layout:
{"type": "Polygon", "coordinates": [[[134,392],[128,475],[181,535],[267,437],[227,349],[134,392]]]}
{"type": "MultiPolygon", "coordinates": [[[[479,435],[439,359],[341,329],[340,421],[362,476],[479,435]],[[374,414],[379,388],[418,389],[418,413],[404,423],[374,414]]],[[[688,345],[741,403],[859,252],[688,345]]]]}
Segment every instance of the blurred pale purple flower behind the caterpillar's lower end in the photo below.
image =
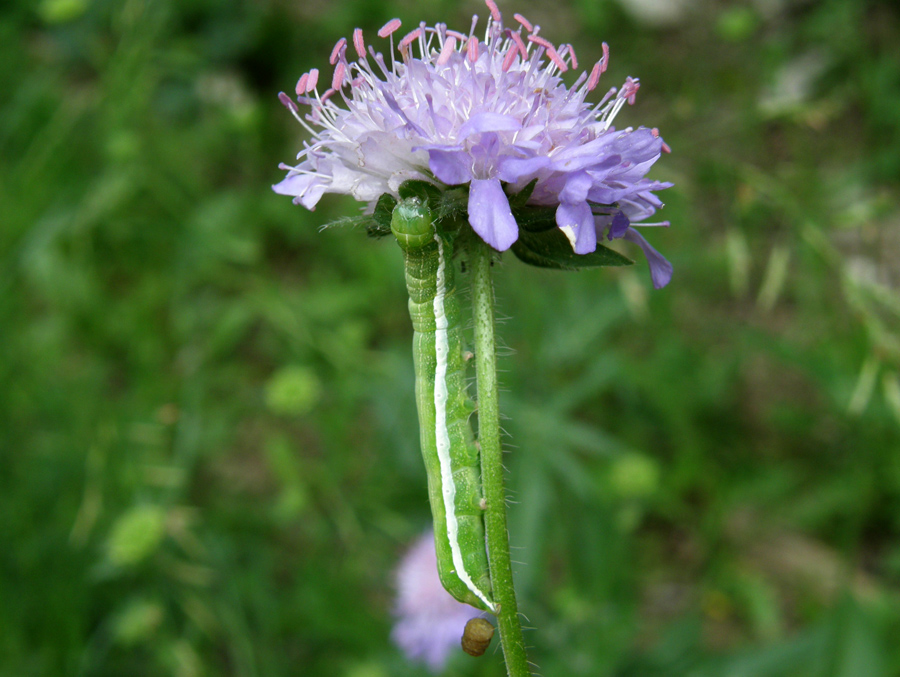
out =
{"type": "Polygon", "coordinates": [[[444,590],[437,573],[434,534],[424,533],[397,568],[397,623],[391,638],[410,660],[440,672],[477,609],[457,602],[444,590]]]}

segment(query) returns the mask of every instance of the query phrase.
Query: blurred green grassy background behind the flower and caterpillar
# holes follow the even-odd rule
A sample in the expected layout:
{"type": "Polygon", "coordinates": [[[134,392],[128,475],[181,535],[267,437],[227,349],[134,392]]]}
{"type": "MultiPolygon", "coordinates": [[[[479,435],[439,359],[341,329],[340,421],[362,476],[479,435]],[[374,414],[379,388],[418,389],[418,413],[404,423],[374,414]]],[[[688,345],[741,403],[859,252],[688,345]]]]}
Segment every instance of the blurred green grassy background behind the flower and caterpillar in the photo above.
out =
{"type": "MultiPolygon", "coordinates": [[[[416,5],[4,3],[3,677],[427,674],[389,640],[429,523],[400,253],[270,189],[337,38],[486,15],[416,5]]],[[[607,41],[673,149],[668,288],[497,268],[541,674],[900,675],[900,10],[501,9],[607,41]]]]}

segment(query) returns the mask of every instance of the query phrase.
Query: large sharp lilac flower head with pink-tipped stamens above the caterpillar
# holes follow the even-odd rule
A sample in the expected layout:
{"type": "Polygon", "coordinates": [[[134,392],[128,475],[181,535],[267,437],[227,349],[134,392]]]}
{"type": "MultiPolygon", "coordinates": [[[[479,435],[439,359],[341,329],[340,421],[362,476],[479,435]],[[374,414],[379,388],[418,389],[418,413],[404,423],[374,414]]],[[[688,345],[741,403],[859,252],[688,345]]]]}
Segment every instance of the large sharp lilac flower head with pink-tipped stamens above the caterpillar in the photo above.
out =
{"type": "Polygon", "coordinates": [[[643,249],[654,285],[672,267],[635,226],[662,207],[654,191],[671,184],[645,178],[668,146],[658,131],[617,130],[613,119],[633,104],[639,82],[627,78],[596,104],[586,97],[609,63],[609,48],[571,87],[560,75],[578,69],[571,45],[556,46],[540,26],[516,14],[504,25],[494,0],[483,39],[445,24],[419,24],[400,38],[400,20],[378,31],[390,41],[388,60],[362,31],[334,46],[330,87],[319,93],[318,69],[297,82],[297,102],[279,95],[312,135],[275,192],[314,209],[325,193],[355,197],[374,208],[409,179],[439,188],[468,186],[468,219],[481,238],[505,251],[518,238],[508,195],[537,180],[529,205],[556,207],[556,223],[576,254],[593,252],[603,234],[643,249]],[[352,49],[352,52],[351,52],[352,49]],[[351,60],[355,56],[355,60],[351,60]],[[346,107],[335,103],[342,99],[346,107]]]}

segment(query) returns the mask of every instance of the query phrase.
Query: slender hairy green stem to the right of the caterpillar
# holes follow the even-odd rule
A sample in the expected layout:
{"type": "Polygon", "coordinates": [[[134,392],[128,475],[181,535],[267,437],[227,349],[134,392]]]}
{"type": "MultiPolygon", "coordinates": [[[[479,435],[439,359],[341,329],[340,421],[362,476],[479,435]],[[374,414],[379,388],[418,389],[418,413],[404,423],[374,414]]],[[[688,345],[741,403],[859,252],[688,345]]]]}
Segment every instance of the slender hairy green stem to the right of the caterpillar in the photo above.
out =
{"type": "Polygon", "coordinates": [[[478,440],[485,500],[485,534],[491,587],[498,603],[497,625],[509,677],[528,677],[525,640],[519,623],[506,528],[503,490],[503,450],[500,446],[500,406],[497,392],[497,350],[494,344],[493,250],[481,238],[469,240],[472,266],[472,314],[475,320],[475,374],[478,384],[478,440]]]}

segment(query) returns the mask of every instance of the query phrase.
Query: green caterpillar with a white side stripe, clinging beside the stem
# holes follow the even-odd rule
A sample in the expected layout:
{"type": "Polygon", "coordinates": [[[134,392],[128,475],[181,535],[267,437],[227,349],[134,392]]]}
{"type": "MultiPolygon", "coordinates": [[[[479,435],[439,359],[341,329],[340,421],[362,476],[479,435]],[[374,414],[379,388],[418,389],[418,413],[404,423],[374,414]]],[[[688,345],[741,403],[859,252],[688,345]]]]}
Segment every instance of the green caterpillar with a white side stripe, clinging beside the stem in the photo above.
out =
{"type": "Polygon", "coordinates": [[[485,551],[479,453],[469,426],[474,405],[465,385],[452,247],[417,197],[397,204],[391,231],[406,261],[416,406],[438,574],[459,601],[496,612],[485,551]]]}

